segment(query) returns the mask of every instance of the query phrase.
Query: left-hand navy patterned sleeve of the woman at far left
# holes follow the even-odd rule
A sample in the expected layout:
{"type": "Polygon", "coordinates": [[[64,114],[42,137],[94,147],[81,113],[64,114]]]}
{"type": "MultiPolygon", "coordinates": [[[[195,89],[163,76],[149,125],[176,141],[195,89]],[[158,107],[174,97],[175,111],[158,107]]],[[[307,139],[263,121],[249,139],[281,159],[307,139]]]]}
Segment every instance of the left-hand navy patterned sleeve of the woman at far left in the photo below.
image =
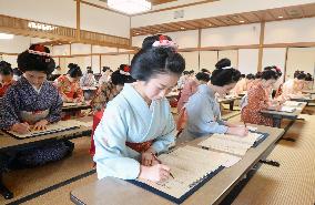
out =
{"type": "Polygon", "coordinates": [[[0,129],[10,129],[13,124],[20,123],[19,111],[20,111],[20,99],[19,94],[14,89],[9,89],[1,103],[0,114],[0,129]]]}

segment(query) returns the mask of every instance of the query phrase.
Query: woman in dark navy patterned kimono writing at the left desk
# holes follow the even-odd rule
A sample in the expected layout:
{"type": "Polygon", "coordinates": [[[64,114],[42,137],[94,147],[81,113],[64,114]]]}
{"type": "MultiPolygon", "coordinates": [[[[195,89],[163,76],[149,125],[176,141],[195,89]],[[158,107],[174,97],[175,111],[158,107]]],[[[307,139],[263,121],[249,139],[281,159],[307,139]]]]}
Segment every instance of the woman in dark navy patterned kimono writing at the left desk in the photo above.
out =
{"type": "Polygon", "coordinates": [[[62,100],[58,90],[47,81],[54,69],[49,49],[35,44],[18,57],[23,75],[12,84],[3,98],[1,129],[20,134],[44,130],[49,123],[60,120],[62,100]]]}

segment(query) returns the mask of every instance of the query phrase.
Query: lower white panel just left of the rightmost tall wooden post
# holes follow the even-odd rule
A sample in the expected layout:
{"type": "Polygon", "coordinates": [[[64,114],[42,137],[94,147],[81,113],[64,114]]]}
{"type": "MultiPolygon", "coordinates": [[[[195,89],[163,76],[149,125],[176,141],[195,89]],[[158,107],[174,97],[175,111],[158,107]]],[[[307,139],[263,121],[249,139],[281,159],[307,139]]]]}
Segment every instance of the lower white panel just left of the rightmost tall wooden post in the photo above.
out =
{"type": "Polygon", "coordinates": [[[258,68],[258,49],[238,50],[238,70],[242,74],[255,74],[258,68]]]}

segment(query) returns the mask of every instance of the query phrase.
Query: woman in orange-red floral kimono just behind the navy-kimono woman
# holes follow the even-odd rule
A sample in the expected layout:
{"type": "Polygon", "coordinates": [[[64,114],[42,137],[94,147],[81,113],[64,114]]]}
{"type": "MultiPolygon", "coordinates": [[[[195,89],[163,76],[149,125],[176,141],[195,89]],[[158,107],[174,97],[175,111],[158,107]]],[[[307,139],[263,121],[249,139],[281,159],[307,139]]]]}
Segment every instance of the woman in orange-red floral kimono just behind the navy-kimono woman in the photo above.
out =
{"type": "Polygon", "coordinates": [[[60,75],[55,80],[55,85],[62,96],[63,102],[80,103],[84,101],[83,91],[79,85],[82,71],[78,64],[70,63],[65,75],[60,75]]]}

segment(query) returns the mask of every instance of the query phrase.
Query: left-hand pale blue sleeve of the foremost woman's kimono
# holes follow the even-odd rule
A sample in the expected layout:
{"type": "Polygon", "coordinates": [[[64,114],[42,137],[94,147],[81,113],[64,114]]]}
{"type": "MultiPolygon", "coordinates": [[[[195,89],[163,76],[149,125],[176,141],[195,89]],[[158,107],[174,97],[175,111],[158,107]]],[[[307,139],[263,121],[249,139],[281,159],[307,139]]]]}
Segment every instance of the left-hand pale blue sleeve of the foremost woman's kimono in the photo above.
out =
{"type": "Polygon", "coordinates": [[[140,174],[140,163],[135,160],[138,153],[126,147],[126,131],[130,119],[126,111],[118,105],[109,106],[94,133],[98,178],[113,176],[123,180],[136,178],[140,174]]]}

